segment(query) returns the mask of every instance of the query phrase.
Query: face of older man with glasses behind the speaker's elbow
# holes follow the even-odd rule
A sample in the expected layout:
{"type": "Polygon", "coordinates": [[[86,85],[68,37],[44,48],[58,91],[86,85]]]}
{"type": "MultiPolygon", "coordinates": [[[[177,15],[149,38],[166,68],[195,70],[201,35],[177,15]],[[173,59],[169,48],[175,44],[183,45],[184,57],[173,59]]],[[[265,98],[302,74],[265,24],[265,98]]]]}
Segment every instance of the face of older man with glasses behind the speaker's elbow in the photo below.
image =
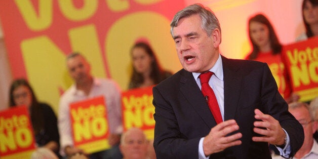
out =
{"type": "Polygon", "coordinates": [[[295,109],[290,109],[289,111],[295,116],[296,120],[304,128],[305,139],[300,149],[310,150],[312,142],[314,140],[312,135],[316,131],[317,127],[316,123],[314,121],[311,121],[309,111],[304,106],[295,109]]]}

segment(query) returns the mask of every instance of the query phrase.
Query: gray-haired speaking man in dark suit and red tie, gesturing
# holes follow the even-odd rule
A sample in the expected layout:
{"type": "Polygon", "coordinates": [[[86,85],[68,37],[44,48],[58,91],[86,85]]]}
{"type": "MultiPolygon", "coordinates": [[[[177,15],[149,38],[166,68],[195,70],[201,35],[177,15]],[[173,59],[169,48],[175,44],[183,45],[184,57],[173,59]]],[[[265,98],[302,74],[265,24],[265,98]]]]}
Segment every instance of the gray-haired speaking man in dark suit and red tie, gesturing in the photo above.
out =
{"type": "Polygon", "coordinates": [[[195,4],[179,11],[171,34],[183,69],[153,88],[157,158],[271,158],[268,144],[285,157],[297,152],[303,128],[267,64],[221,56],[220,24],[210,9],[195,4]],[[201,92],[201,73],[208,71],[217,120],[212,98],[201,92]]]}

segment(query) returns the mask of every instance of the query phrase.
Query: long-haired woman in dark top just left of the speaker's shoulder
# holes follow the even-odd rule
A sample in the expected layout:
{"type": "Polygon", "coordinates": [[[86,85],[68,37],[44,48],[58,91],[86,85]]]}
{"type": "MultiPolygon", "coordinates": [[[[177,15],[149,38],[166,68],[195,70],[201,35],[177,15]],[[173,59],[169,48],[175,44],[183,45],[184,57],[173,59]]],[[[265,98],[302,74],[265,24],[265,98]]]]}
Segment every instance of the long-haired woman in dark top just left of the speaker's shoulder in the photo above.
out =
{"type": "Polygon", "coordinates": [[[172,73],[163,70],[151,47],[144,42],[136,43],[131,49],[133,73],[129,89],[156,85],[171,76],[172,73]]]}

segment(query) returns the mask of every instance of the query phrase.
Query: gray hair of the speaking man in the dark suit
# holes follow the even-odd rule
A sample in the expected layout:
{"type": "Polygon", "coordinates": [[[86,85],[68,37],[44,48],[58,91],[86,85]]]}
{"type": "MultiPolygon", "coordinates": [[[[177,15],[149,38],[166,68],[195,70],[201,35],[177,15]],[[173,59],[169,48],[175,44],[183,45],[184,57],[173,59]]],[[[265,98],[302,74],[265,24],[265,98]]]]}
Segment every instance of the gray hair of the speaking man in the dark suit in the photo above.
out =
{"type": "Polygon", "coordinates": [[[221,27],[218,18],[211,11],[210,8],[204,7],[201,4],[190,5],[183,10],[179,11],[172,19],[170,26],[170,33],[173,36],[173,28],[178,25],[178,22],[182,18],[186,18],[192,15],[198,14],[201,18],[201,27],[207,32],[208,36],[211,35],[212,31],[218,28],[221,32],[221,27]]]}

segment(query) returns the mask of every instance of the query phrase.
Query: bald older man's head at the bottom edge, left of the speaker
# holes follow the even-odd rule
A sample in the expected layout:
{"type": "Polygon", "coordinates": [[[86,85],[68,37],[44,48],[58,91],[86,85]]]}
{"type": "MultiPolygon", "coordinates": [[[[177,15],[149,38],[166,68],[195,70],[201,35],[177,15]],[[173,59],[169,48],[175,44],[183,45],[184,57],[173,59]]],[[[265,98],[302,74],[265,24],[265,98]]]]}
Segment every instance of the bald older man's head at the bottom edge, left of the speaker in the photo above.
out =
{"type": "Polygon", "coordinates": [[[123,133],[120,149],[124,159],[145,159],[147,158],[148,142],[146,135],[139,128],[130,128],[123,133]]]}

